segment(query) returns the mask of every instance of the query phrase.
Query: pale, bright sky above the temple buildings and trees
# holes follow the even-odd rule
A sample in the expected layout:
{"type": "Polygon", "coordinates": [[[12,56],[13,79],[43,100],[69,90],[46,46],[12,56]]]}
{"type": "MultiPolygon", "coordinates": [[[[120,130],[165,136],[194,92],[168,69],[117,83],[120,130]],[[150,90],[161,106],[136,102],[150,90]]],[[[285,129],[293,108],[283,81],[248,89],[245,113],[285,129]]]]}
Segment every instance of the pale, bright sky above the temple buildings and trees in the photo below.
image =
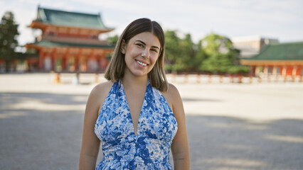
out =
{"type": "Polygon", "coordinates": [[[164,30],[176,30],[179,37],[189,33],[193,42],[210,33],[228,38],[257,35],[280,42],[303,41],[302,0],[0,0],[0,16],[14,13],[19,24],[19,45],[33,42],[38,34],[28,26],[37,8],[100,13],[105,26],[115,28],[101,35],[119,35],[137,18],[150,18],[164,30]]]}

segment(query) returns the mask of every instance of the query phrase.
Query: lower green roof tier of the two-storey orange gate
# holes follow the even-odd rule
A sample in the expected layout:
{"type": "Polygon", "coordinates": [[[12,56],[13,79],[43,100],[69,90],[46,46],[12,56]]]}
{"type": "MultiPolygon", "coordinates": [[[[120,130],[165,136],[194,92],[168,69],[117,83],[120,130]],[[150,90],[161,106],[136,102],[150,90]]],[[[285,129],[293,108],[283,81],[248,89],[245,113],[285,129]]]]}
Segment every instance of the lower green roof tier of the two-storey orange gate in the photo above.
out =
{"type": "Polygon", "coordinates": [[[79,43],[68,43],[68,42],[52,42],[52,41],[39,41],[33,43],[33,45],[41,47],[100,47],[100,48],[115,48],[112,45],[91,45],[91,44],[79,44],[79,43]]]}

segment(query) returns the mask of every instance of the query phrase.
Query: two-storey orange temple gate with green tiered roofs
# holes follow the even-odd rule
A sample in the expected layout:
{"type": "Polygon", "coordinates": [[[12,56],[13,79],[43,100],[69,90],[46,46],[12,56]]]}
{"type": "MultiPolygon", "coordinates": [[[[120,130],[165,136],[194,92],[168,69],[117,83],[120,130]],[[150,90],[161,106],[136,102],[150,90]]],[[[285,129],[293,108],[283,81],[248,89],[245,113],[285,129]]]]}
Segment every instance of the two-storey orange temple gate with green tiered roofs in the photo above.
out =
{"type": "Polygon", "coordinates": [[[101,33],[113,30],[102,22],[100,13],[59,11],[38,6],[30,28],[42,30],[36,42],[25,45],[36,55],[27,57],[28,69],[56,72],[102,72],[106,56],[114,47],[99,40],[101,33]]]}

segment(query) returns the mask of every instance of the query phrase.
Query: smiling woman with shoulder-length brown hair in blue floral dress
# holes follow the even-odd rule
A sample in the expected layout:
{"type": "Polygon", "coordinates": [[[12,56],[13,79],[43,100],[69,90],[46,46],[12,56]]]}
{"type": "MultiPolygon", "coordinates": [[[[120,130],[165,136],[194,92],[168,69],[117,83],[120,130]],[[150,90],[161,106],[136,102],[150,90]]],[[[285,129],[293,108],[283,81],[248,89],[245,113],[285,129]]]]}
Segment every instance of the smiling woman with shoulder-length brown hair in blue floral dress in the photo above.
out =
{"type": "Polygon", "coordinates": [[[79,169],[189,169],[184,108],[164,74],[164,32],[140,18],[119,37],[105,78],[87,100],[79,169]]]}

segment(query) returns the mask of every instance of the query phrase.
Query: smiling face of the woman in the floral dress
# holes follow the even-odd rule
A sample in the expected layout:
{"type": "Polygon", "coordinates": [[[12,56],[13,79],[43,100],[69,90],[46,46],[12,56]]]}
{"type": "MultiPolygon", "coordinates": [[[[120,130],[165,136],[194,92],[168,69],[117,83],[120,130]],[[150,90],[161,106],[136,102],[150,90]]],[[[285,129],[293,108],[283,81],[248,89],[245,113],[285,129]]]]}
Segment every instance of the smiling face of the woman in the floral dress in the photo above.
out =
{"type": "Polygon", "coordinates": [[[154,67],[160,48],[159,39],[149,32],[135,35],[127,44],[122,42],[121,52],[125,55],[124,61],[127,65],[124,74],[146,76],[154,67]]]}

